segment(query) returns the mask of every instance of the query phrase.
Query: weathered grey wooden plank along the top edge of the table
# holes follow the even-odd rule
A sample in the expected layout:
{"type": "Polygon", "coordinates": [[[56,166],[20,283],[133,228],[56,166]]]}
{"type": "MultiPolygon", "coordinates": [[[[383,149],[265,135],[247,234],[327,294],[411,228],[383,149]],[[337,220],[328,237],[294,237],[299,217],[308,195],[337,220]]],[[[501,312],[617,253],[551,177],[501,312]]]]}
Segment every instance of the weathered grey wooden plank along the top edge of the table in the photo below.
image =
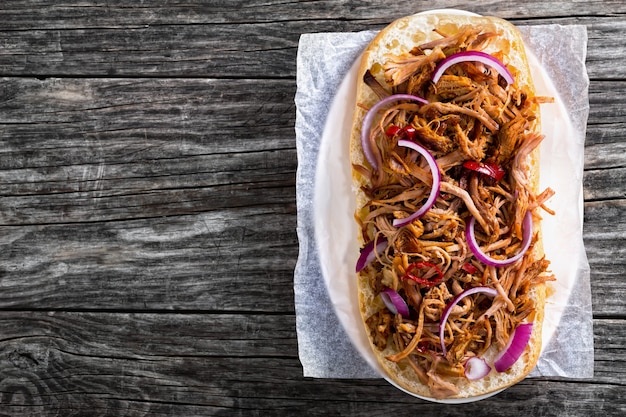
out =
{"type": "MultiPolygon", "coordinates": [[[[230,78],[294,77],[301,33],[380,29],[390,21],[428,9],[401,3],[229,2],[168,4],[128,8],[107,2],[43,5],[31,10],[16,1],[0,10],[0,74],[47,77],[197,76],[230,78]],[[241,3],[241,4],[236,4],[241,3]],[[28,10],[24,13],[23,10],[28,10]],[[259,11],[262,10],[262,13],[259,11]],[[240,25],[245,25],[241,32],[240,25]],[[184,30],[180,30],[184,27],[184,30]]],[[[589,32],[588,71],[593,79],[623,78],[620,39],[625,30],[622,1],[438,2],[511,19],[516,24],[585,24],[589,32]]]]}

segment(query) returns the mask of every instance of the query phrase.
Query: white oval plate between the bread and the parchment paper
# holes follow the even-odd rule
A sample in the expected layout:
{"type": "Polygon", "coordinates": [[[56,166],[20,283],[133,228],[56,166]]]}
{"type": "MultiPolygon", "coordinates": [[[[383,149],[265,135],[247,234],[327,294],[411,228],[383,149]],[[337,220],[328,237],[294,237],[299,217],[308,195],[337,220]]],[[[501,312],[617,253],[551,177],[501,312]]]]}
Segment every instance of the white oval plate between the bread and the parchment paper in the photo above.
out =
{"type": "MultiPolygon", "coordinates": [[[[424,13],[440,12],[475,15],[474,13],[454,9],[432,10],[424,13]]],[[[541,68],[537,58],[530,51],[527,50],[526,52],[537,94],[555,98],[554,104],[543,105],[541,109],[542,120],[550,121],[549,124],[544,123],[542,125],[542,132],[546,135],[546,139],[541,145],[542,152],[546,143],[551,143],[551,149],[564,147],[566,146],[568,135],[572,137],[571,132],[573,131],[565,106],[551,80],[541,68]]],[[[359,61],[360,58],[352,65],[333,99],[322,134],[315,176],[315,237],[322,274],[331,302],[352,344],[366,362],[392,385],[415,397],[446,404],[461,404],[489,398],[502,390],[477,397],[444,400],[434,400],[413,394],[385,377],[384,371],[371,351],[359,310],[356,273],[354,271],[360,248],[356,240],[359,231],[354,220],[356,206],[354,201],[355,195],[352,189],[349,141],[352,129],[352,116],[356,104],[355,96],[359,61]]],[[[541,164],[542,189],[550,186],[557,191],[556,195],[550,200],[550,206],[557,212],[563,213],[568,210],[568,207],[571,209],[572,206],[570,204],[572,201],[575,204],[581,204],[579,203],[581,196],[578,194],[572,195],[572,192],[561,192],[559,181],[557,181],[553,170],[550,168],[547,161],[541,164]],[[563,207],[563,210],[560,210],[561,207],[563,207]]],[[[571,178],[569,178],[569,182],[571,183],[571,178]]],[[[576,191],[576,187],[573,187],[573,189],[576,191]]],[[[576,222],[578,220],[573,219],[573,221],[576,222]]],[[[542,230],[544,236],[563,236],[563,239],[567,239],[567,236],[563,234],[556,234],[558,229],[556,219],[553,216],[544,218],[542,230]],[[555,234],[552,234],[553,232],[555,234]]],[[[547,345],[558,327],[563,308],[567,304],[571,286],[573,285],[573,280],[561,279],[561,277],[567,278],[567,276],[572,276],[569,273],[571,268],[565,265],[567,257],[563,258],[563,254],[560,254],[558,249],[561,241],[562,239],[551,239],[544,242],[546,256],[552,260],[551,269],[559,277],[559,281],[557,281],[558,286],[555,288],[554,294],[551,295],[551,303],[546,304],[542,348],[547,345]],[[560,258],[557,258],[557,256],[560,258]],[[557,262],[559,260],[561,262],[557,262]],[[565,271],[562,271],[563,269],[565,271]]]]}

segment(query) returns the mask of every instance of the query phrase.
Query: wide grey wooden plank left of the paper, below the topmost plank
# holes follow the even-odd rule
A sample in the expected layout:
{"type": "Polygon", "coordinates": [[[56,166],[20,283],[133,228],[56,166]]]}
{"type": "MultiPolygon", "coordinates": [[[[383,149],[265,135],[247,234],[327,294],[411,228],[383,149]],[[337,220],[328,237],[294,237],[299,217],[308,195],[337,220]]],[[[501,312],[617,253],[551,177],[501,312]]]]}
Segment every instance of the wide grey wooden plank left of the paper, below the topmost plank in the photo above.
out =
{"type": "Polygon", "coordinates": [[[292,81],[2,86],[2,224],[294,203],[292,81]]]}

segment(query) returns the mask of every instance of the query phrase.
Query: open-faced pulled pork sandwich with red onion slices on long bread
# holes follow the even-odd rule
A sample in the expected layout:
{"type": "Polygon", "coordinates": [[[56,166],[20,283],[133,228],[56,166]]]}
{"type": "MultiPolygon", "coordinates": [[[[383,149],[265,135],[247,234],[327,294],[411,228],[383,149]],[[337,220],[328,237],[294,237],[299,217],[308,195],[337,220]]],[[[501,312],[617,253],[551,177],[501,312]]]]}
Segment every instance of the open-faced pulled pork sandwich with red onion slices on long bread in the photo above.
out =
{"type": "Polygon", "coordinates": [[[362,57],[350,153],[360,308],[387,376],[420,396],[506,388],[535,366],[545,283],[539,104],[493,17],[414,15],[362,57]]]}

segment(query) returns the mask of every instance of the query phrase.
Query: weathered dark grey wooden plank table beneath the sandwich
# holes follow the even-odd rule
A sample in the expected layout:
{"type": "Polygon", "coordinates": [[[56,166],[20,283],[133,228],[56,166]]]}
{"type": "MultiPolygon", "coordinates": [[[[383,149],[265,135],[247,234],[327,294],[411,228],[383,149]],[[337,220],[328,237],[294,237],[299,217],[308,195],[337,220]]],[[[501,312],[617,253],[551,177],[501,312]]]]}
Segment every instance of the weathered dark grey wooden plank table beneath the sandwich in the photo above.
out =
{"type": "Polygon", "coordinates": [[[595,376],[463,407],[304,378],[295,331],[299,35],[432,2],[54,3],[0,6],[0,415],[626,413],[626,2],[464,6],[588,28],[595,376]]]}

